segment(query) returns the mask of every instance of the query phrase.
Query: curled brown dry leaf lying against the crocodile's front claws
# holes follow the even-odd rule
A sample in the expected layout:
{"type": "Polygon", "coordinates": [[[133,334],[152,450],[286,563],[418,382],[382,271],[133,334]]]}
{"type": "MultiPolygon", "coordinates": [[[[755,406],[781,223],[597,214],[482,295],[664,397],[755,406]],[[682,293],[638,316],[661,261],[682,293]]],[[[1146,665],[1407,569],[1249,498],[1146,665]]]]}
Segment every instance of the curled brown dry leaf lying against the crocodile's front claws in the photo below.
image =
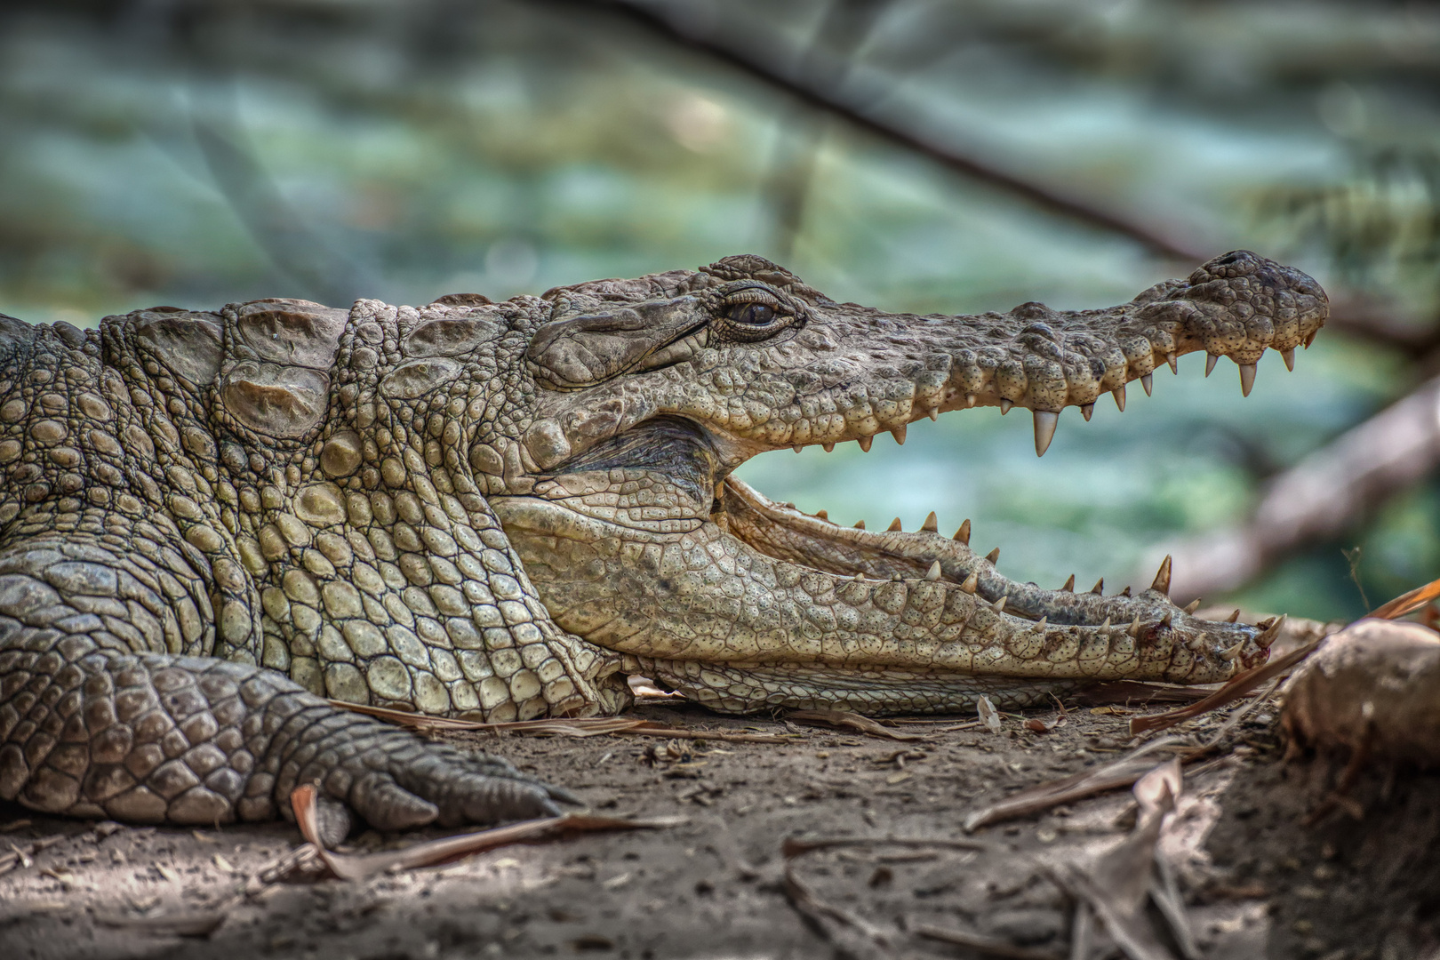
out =
{"type": "Polygon", "coordinates": [[[295,823],[307,841],[310,841],[320,859],[340,879],[364,879],[392,869],[415,869],[418,866],[433,866],[469,853],[488,851],[495,846],[534,841],[543,836],[569,832],[588,830],[649,830],[677,826],[685,818],[664,818],[652,820],[622,820],[611,816],[585,816],[566,813],[563,816],[549,816],[539,820],[521,820],[508,826],[497,826],[490,830],[475,833],[459,833],[438,841],[426,841],[406,846],[399,851],[383,851],[379,853],[336,853],[327,851],[320,842],[320,830],[315,823],[315,787],[302,784],[289,794],[291,807],[295,810],[295,823]]]}

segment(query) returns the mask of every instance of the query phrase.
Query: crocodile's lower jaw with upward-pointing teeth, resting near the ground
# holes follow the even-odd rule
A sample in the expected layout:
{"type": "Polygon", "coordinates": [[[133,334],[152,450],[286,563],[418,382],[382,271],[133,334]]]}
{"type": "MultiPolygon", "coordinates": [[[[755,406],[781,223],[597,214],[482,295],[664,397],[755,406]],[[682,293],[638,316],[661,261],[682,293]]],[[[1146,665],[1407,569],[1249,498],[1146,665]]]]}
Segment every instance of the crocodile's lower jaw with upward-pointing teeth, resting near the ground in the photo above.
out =
{"type": "Polygon", "coordinates": [[[685,534],[528,497],[491,505],[563,629],[726,712],[1025,707],[1094,681],[1214,682],[1264,659],[1257,628],[1194,620],[1158,592],[1015,584],[930,530],[841,530],[736,481],[685,534]]]}

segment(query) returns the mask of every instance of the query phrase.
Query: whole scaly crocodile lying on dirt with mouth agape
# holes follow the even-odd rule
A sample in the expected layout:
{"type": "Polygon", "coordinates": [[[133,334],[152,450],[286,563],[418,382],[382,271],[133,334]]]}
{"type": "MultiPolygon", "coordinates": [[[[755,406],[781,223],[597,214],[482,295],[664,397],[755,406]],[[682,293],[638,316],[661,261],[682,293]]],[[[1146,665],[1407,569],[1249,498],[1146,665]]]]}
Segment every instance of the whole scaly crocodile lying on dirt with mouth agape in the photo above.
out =
{"type": "Polygon", "coordinates": [[[505,760],[343,704],[615,714],[644,675],[716,711],[870,715],[1214,682],[1274,626],[1155,583],[1015,583],[942,535],[842,528],[732,474],[903,442],[920,417],[1060,413],[1204,350],[1250,391],[1328,314],[1227,253],[1132,302],[976,317],[831,301],[759,256],[491,302],[259,299],[95,330],[0,317],[0,799],[328,836],[549,815],[505,760]]]}

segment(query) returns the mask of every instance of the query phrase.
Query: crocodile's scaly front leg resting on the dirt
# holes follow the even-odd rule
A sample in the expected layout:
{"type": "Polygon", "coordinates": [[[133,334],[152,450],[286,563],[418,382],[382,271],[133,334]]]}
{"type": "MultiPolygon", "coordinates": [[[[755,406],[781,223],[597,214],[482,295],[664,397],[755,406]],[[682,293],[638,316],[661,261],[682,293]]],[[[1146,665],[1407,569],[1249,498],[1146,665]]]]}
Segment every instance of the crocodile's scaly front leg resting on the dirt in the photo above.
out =
{"type": "Polygon", "coordinates": [[[0,550],[0,797],[226,823],[291,816],[289,792],[315,783],[328,841],[347,810],[379,829],[556,813],[554,789],[498,757],[336,710],[274,671],[164,652],[183,636],[174,609],[153,567],[98,538],[0,550]]]}

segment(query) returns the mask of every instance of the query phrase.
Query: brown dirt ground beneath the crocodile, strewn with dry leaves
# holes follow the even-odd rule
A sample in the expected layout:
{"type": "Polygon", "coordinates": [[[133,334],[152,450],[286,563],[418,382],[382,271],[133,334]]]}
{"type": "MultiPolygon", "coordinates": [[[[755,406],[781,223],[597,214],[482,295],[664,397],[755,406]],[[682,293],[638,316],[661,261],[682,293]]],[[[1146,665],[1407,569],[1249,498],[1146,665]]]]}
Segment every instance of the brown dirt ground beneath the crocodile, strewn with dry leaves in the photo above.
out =
{"type": "MultiPolygon", "coordinates": [[[[1129,715],[1099,710],[1074,708],[1051,733],[1009,717],[999,734],[952,728],[973,717],[894,727],[920,741],[724,718],[683,702],[636,712],[786,741],[446,734],[570,786],[596,813],[687,820],[507,846],[357,882],[304,872],[275,879],[276,861],[302,843],[292,825],[131,828],[0,805],[0,858],[16,853],[0,874],[0,957],[864,953],[835,924],[808,921],[791,904],[782,842],[963,836],[960,820],[978,803],[1120,756],[1129,715]],[[163,927],[207,915],[223,917],[207,936],[163,927]]],[[[1228,759],[1187,776],[1161,841],[1202,954],[1440,957],[1440,777],[1387,783],[1377,771],[1358,794],[1364,819],[1338,812],[1302,826],[1329,783],[1326,763],[1282,764],[1273,715],[1257,711],[1246,724],[1228,759]]],[[[933,925],[1063,957],[1071,907],[1037,864],[1089,862],[1125,836],[1133,809],[1130,793],[1115,790],[976,830],[989,851],[841,848],[792,864],[818,898],[887,931],[891,946],[876,956],[984,956],[914,933],[933,925]]],[[[413,839],[366,833],[350,846],[413,839]]]]}

